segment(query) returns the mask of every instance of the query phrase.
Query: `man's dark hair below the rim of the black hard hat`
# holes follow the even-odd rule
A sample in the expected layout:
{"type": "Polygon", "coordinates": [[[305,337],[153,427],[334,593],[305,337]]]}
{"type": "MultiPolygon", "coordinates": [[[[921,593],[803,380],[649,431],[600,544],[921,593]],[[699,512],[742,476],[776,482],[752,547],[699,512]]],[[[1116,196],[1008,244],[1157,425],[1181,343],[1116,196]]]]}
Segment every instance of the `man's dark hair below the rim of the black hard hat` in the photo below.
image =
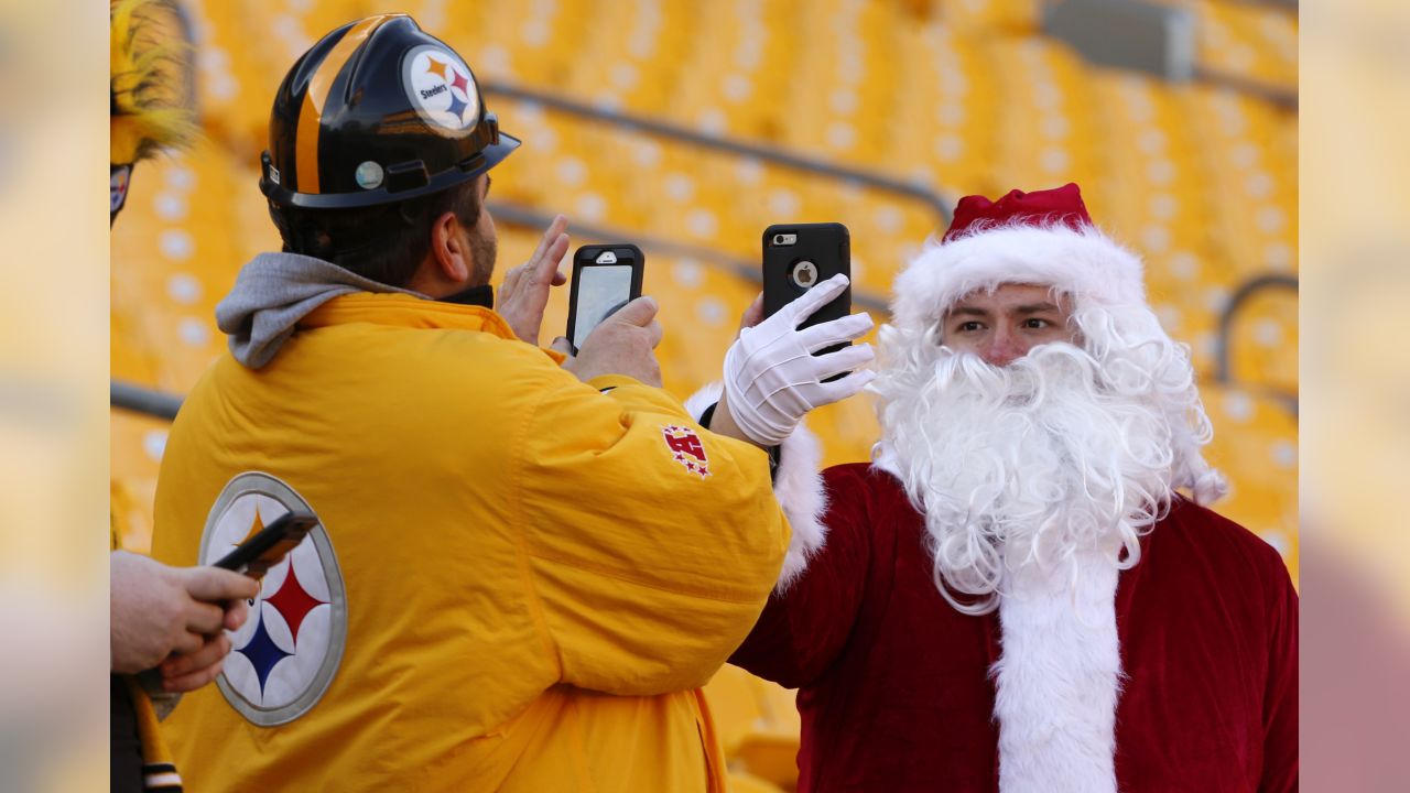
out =
{"type": "Polygon", "coordinates": [[[298,209],[269,202],[283,251],[312,255],[388,286],[406,286],[431,246],[431,226],[454,212],[471,229],[479,220],[479,179],[400,203],[362,209],[298,209]]]}

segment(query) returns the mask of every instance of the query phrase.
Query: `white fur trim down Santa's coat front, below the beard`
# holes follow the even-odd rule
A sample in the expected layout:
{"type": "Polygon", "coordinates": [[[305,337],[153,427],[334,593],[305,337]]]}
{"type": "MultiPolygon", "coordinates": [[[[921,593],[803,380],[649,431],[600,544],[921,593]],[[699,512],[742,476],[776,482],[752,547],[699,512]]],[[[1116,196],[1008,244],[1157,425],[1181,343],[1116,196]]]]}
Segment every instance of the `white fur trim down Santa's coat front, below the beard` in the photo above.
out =
{"type": "Polygon", "coordinates": [[[1003,656],[998,787],[1003,793],[1115,793],[1117,567],[1079,553],[1062,573],[1026,564],[998,603],[1003,656]]]}

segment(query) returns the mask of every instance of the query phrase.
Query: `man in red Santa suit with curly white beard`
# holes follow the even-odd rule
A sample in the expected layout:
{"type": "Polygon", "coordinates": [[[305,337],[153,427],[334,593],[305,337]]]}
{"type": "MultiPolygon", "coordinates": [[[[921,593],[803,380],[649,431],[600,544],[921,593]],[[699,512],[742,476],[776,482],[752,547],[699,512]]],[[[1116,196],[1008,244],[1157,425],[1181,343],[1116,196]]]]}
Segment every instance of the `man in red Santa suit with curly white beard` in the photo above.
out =
{"type": "Polygon", "coordinates": [[[1297,593],[1206,507],[1139,258],[1077,185],[969,196],[891,308],[874,459],[732,658],[798,689],[798,789],[1296,790],[1297,593]]]}

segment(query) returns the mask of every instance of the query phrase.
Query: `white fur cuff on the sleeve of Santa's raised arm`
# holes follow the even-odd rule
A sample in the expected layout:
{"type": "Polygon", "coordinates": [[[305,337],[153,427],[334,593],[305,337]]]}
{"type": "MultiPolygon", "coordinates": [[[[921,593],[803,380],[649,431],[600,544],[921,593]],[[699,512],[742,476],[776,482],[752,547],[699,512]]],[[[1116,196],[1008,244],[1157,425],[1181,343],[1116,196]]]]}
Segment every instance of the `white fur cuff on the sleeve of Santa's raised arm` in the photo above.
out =
{"type": "MultiPolygon", "coordinates": [[[[685,401],[685,409],[699,420],[706,408],[719,402],[722,391],[721,382],[711,382],[691,394],[685,401]]],[[[822,514],[828,508],[828,494],[822,485],[822,446],[805,422],[798,423],[778,450],[774,498],[783,507],[792,529],[788,555],[784,556],[784,569],[778,574],[776,587],[776,591],[781,593],[808,569],[808,560],[828,539],[828,526],[822,522],[822,514]]]]}

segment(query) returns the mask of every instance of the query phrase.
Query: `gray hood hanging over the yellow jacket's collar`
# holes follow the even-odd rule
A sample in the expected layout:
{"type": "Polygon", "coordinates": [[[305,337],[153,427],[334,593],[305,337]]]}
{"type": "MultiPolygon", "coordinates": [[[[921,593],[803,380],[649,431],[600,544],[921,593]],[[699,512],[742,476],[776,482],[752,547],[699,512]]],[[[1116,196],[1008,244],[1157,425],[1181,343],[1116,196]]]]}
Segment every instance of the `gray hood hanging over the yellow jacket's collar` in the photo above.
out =
{"type": "Polygon", "coordinates": [[[259,254],[240,270],[235,288],[216,306],[216,326],[230,336],[230,351],[259,368],[293,336],[293,326],[313,309],[351,292],[420,292],[378,284],[341,267],[300,254],[259,254]]]}

